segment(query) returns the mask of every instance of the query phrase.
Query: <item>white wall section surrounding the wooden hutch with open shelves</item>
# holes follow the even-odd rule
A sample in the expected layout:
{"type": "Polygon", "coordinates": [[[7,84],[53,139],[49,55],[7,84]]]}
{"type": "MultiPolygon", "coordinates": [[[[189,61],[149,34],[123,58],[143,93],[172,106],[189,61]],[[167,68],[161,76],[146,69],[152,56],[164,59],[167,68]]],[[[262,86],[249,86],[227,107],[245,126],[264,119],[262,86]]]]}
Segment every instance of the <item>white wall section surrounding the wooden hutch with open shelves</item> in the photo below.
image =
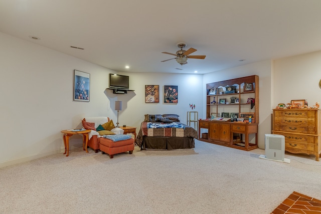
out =
{"type": "MultiPolygon", "coordinates": [[[[259,148],[264,148],[264,134],[271,133],[271,67],[271,61],[266,60],[204,75],[203,94],[206,94],[206,83],[251,75],[259,76],[259,148]]],[[[203,112],[205,118],[206,106],[203,107],[203,112]]]]}

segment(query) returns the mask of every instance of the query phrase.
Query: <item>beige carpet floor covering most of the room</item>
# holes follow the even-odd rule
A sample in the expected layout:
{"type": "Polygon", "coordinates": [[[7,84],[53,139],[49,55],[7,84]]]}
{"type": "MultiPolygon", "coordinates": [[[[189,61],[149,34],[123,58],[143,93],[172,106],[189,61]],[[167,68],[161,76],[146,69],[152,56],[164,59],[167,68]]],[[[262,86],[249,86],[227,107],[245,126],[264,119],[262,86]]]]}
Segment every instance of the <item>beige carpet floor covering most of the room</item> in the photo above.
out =
{"type": "Polygon", "coordinates": [[[196,140],[194,150],[79,148],[0,169],[0,213],[271,213],[293,191],[321,198],[321,164],[196,140]]]}

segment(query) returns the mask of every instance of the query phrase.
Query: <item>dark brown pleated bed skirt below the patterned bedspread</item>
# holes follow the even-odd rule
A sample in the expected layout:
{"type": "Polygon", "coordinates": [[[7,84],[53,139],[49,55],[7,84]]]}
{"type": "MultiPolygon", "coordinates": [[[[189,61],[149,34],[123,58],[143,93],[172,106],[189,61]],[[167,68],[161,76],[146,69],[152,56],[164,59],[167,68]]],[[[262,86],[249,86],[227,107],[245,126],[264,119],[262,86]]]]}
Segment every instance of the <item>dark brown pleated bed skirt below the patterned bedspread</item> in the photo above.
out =
{"type": "Polygon", "coordinates": [[[192,137],[147,137],[143,136],[142,149],[191,149],[195,148],[192,137]]]}

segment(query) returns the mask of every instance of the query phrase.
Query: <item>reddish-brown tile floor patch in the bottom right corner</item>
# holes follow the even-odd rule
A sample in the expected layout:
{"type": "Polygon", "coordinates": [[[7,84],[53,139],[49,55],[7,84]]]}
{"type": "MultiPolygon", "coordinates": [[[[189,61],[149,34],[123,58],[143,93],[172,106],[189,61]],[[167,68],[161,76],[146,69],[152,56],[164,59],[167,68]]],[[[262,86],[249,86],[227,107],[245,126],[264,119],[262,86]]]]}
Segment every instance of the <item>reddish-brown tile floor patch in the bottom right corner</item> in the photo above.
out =
{"type": "Polygon", "coordinates": [[[293,192],[271,214],[316,214],[321,213],[321,200],[293,192]]]}

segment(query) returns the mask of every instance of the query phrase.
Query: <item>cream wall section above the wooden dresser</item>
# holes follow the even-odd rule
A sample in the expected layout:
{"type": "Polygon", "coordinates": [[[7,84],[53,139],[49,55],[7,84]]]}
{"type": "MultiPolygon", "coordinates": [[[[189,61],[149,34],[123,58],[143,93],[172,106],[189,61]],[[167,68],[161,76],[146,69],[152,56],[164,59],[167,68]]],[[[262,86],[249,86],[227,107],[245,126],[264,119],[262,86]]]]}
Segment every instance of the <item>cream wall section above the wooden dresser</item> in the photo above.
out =
{"type": "Polygon", "coordinates": [[[321,79],[321,51],[274,61],[274,102],[307,100],[308,105],[321,102],[318,83],[321,79]]]}

